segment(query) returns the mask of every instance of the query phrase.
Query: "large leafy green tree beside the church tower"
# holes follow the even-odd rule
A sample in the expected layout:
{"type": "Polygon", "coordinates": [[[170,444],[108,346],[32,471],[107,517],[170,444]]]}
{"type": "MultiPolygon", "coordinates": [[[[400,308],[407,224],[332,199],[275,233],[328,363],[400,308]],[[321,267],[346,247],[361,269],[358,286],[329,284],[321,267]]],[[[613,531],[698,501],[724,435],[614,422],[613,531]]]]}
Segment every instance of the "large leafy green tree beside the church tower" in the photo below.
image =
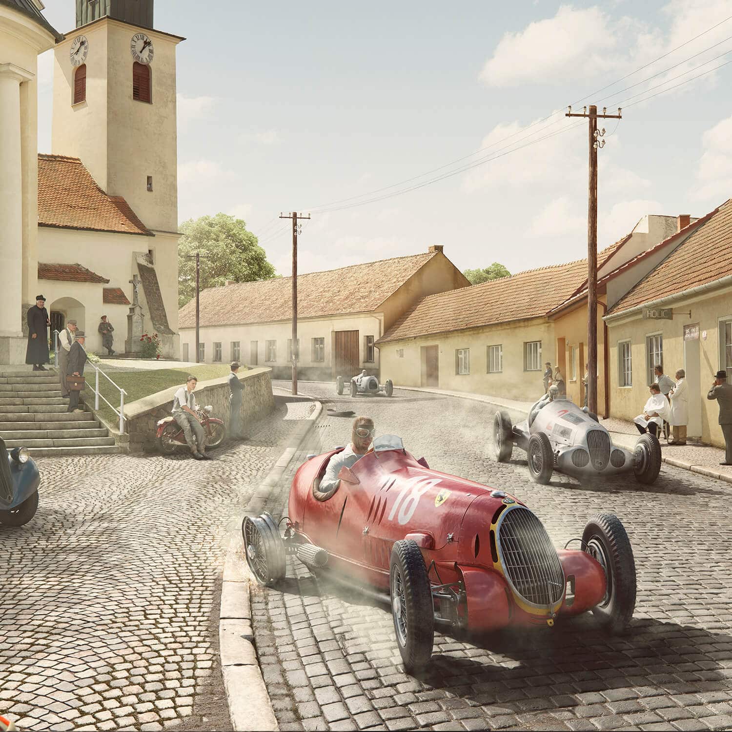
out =
{"type": "Polygon", "coordinates": [[[201,216],[181,225],[178,242],[178,307],[195,296],[195,253],[201,253],[201,290],[221,287],[226,280],[253,282],[275,277],[275,268],[247,231],[242,219],[228,214],[201,216]]]}

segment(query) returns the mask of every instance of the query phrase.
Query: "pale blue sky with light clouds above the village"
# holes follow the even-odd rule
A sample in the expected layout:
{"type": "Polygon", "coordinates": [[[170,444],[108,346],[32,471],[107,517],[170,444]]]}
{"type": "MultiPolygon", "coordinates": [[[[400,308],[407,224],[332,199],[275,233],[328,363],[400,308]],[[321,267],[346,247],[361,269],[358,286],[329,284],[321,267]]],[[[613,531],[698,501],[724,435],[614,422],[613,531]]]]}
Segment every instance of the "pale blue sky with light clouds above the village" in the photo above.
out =
{"type": "MultiPolygon", "coordinates": [[[[72,31],[74,0],[45,16],[72,31]]],[[[187,38],[179,220],[244,219],[283,275],[294,210],[312,215],[299,272],[431,244],[460,269],[583,258],[587,123],[564,112],[619,102],[600,122],[599,247],[644,214],[701,216],[732,196],[732,63],[714,70],[730,16],[728,0],[157,0],[155,28],[187,38]]],[[[39,150],[63,153],[52,52],[39,64],[39,150]]]]}

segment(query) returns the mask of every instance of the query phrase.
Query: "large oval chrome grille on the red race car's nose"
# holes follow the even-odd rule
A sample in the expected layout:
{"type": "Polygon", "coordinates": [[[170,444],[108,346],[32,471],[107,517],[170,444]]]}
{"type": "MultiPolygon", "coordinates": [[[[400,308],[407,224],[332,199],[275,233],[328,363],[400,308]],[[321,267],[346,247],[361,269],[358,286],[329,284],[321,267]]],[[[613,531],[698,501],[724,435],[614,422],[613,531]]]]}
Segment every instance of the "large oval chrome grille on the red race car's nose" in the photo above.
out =
{"type": "Polygon", "coordinates": [[[525,602],[550,608],[564,596],[564,571],[541,521],[528,508],[504,511],[498,552],[512,589],[525,602]]]}

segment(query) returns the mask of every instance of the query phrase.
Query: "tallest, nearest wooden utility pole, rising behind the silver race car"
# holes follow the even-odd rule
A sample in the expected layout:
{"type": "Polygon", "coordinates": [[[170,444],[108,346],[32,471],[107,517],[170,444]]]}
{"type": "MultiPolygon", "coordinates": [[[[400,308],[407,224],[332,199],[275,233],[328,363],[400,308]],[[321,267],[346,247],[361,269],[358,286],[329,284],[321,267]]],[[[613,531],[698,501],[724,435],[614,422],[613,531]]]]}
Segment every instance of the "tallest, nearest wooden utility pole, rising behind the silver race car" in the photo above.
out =
{"type": "MultiPolygon", "coordinates": [[[[622,119],[621,108],[617,114],[608,114],[602,108],[591,104],[582,113],[572,112],[569,107],[567,117],[586,117],[589,120],[589,190],[587,195],[587,408],[597,414],[597,149],[605,147],[600,139],[605,135],[605,127],[597,129],[598,119],[622,119]]],[[[605,354],[605,359],[608,354],[605,354]]],[[[582,365],[580,364],[580,368],[582,365]]],[[[605,384],[608,389],[608,384],[605,384]]]]}

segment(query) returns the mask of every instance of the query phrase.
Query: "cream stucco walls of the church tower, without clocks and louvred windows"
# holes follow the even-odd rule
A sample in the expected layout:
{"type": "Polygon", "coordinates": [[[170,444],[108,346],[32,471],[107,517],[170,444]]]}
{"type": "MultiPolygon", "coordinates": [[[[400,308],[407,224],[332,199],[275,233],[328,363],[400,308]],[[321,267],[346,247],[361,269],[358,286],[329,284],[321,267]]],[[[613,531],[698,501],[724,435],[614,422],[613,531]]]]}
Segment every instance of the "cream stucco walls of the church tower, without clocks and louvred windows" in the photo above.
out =
{"type": "Polygon", "coordinates": [[[144,31],[154,44],[152,103],[132,99],[130,40],[136,26],[105,18],[70,34],[55,51],[53,137],[55,154],[81,157],[110,195],[122,195],[154,231],[177,231],[176,45],[144,31]],[[89,40],[86,101],[72,104],[75,67],[69,48],[78,34],[89,40]],[[152,176],[152,193],[147,190],[152,176]]]}

